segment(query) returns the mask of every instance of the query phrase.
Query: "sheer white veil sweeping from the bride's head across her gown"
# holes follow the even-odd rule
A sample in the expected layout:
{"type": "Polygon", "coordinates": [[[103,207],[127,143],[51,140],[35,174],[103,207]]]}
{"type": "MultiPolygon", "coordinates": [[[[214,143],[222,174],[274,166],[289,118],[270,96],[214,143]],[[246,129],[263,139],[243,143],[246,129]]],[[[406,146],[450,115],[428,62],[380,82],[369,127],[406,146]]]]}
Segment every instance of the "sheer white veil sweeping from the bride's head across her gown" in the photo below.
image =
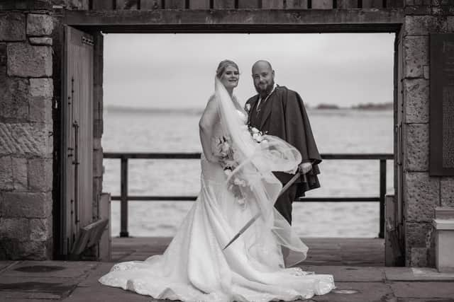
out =
{"type": "Polygon", "coordinates": [[[260,143],[253,139],[248,125],[241,119],[231,96],[217,77],[215,96],[223,137],[230,145],[233,161],[237,163],[225,185],[236,191],[238,199],[243,199],[245,207],[250,207],[253,214],[260,212],[259,220],[265,226],[260,228],[261,234],[255,234],[255,243],[250,246],[260,248],[265,232],[271,230],[277,243],[290,251],[284,259],[286,266],[301,262],[306,258],[308,248],[274,207],[282,184],[272,173],[295,173],[301,163],[301,154],[279,137],[265,134],[260,143]]]}

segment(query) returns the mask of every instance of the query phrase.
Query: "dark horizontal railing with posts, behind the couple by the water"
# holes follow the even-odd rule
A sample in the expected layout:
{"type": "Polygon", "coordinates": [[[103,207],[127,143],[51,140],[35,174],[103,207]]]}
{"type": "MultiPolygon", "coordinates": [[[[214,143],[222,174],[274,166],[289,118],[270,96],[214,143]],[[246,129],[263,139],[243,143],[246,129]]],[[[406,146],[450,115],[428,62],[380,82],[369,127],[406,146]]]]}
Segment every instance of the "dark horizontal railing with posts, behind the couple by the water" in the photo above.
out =
{"type": "MultiPolygon", "coordinates": [[[[112,196],[112,200],[120,200],[120,237],[128,237],[128,201],[194,201],[196,196],[130,196],[128,195],[128,160],[129,159],[200,159],[200,153],[121,153],[106,152],[104,158],[120,159],[121,161],[121,192],[120,196],[112,196]]],[[[379,238],[384,238],[384,195],[386,194],[386,161],[394,159],[391,153],[323,153],[323,160],[377,160],[380,161],[380,194],[378,197],[304,197],[295,202],[380,202],[379,238]]]]}

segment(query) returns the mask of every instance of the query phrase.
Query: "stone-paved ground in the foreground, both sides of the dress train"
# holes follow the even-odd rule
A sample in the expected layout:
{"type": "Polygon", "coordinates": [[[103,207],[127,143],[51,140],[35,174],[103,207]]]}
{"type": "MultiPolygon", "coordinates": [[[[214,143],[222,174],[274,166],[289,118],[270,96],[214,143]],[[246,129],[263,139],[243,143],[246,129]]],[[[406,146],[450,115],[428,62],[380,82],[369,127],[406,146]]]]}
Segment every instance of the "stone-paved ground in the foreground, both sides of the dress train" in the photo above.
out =
{"type": "MultiPolygon", "coordinates": [[[[123,289],[103,286],[99,277],[114,262],[0,262],[0,301],[140,302],[157,301],[123,289]]],[[[333,274],[337,288],[309,301],[454,302],[454,273],[433,268],[301,265],[307,271],[333,274]]]]}

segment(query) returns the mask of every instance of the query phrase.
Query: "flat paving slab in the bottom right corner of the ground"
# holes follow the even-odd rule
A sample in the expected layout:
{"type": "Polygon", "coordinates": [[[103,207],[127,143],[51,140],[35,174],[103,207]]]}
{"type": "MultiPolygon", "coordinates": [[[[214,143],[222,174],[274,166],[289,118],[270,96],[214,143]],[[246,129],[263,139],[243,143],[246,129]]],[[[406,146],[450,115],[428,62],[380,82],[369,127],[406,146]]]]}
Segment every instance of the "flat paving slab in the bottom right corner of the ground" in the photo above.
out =
{"type": "Polygon", "coordinates": [[[389,284],[397,298],[454,298],[452,282],[393,282],[389,284]]]}

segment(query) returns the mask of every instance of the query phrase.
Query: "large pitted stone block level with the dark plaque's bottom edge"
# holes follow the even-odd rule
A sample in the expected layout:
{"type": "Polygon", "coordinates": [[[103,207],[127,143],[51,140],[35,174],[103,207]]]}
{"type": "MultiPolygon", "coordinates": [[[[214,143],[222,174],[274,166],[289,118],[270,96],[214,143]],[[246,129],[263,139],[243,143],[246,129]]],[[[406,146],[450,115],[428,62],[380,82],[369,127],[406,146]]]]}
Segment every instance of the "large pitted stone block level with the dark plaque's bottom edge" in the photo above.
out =
{"type": "Polygon", "coordinates": [[[407,172],[404,175],[404,216],[406,221],[432,221],[433,210],[440,202],[439,178],[427,172],[407,172]]]}

